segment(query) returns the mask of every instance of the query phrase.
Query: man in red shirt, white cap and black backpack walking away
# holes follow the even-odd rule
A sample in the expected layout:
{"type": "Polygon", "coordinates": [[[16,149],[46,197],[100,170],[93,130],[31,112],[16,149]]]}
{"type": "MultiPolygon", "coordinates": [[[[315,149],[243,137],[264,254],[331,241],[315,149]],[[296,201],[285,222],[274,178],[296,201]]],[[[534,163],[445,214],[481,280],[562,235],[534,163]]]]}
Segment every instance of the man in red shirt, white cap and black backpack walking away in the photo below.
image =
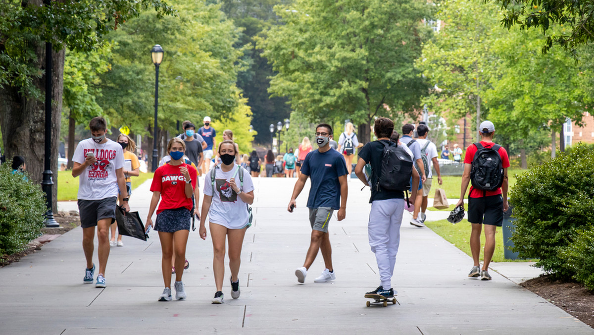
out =
{"type": "Polygon", "coordinates": [[[464,174],[462,190],[457,206],[464,206],[464,196],[468,184],[468,221],[472,223],[470,233],[470,251],[474,266],[468,277],[481,277],[491,280],[489,263],[495,252],[495,231],[503,224],[503,212],[507,211],[507,168],[510,159],[503,146],[493,143],[495,126],[491,121],[483,121],[481,126],[481,142],[474,143],[466,149],[464,158],[464,174]],[[481,230],[485,226],[485,251],[482,269],[479,264],[481,252],[481,230]]]}

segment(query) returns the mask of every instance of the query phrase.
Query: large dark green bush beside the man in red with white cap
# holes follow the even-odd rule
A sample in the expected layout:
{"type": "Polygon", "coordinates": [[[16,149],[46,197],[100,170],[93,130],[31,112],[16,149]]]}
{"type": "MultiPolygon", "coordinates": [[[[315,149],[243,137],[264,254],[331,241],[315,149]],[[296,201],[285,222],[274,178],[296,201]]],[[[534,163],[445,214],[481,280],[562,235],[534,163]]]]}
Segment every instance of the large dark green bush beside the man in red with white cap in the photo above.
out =
{"type": "Polygon", "coordinates": [[[538,258],[536,266],[548,273],[573,277],[561,253],[594,226],[594,150],[577,145],[534,166],[518,177],[510,202],[517,218],[513,251],[538,258]]]}

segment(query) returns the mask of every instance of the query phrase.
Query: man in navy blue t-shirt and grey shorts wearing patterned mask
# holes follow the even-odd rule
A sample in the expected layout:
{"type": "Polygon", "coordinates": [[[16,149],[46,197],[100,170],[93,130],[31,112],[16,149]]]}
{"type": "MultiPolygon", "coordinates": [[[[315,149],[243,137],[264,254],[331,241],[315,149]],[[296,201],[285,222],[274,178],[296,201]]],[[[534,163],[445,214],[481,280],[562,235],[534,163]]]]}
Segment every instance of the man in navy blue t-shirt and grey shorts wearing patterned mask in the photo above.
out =
{"type": "Polygon", "coordinates": [[[309,152],[301,164],[301,176],[295,183],[293,195],[287,210],[293,212],[297,206],[295,199],[305,186],[308,177],[311,179],[311,189],[307,207],[309,208],[309,224],[311,225],[311,242],[305,256],[303,267],[295,270],[299,283],[304,283],[307,270],[311,267],[321,249],[326,269],[320,277],[315,278],[316,283],[324,283],[336,279],[332,267],[332,248],[328,237],[328,221],[334,210],[338,209],[338,221],[346,216],[346,197],[348,187],[346,182],[345,158],[340,152],[330,148],[332,127],[321,123],[315,127],[315,142],[319,149],[309,152]]]}

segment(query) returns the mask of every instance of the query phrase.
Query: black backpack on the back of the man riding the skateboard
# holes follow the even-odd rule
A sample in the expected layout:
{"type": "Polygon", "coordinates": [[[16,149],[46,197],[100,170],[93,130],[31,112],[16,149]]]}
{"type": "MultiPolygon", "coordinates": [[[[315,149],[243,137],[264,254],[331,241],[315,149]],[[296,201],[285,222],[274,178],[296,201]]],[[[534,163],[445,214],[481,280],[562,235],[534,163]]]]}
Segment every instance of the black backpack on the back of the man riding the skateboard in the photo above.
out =
{"type": "Polygon", "coordinates": [[[384,149],[381,153],[380,176],[375,185],[376,190],[380,190],[380,186],[386,190],[408,190],[412,175],[412,158],[405,149],[390,145],[391,142],[380,143],[384,145],[384,149]]]}

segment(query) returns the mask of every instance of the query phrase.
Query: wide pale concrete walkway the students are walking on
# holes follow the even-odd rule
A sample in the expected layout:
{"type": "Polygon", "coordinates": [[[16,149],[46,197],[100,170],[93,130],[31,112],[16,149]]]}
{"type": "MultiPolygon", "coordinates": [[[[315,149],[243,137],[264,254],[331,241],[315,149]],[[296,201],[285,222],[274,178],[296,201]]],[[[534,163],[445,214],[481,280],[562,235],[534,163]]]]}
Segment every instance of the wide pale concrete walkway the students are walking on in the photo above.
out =
{"type": "MultiPolygon", "coordinates": [[[[363,295],[379,278],[367,240],[369,190],[359,191],[357,180],[349,181],[346,220],[330,221],[336,281],[313,283],[324,268],[318,255],[305,284],[298,284],[294,271],[311,233],[308,187],[290,214],[286,205],[295,179],[254,180],[255,224],[245,236],[240,299],[230,298],[225,281],[225,303],[211,305],[212,244],[197,231],[188,240],[185,301],[157,302],[163,280],[154,232],[148,242],[125,238],[124,247],[111,249],[105,289],[84,285],[82,230],[75,228],[0,269],[0,333],[594,334],[495,271],[492,281],[467,278],[472,259],[428,228],[407,224],[407,213],[393,278],[400,305],[366,307],[363,295]]],[[[149,183],[131,197],[132,210],[143,219],[149,183]]],[[[76,206],[61,203],[66,205],[76,206]]]]}

